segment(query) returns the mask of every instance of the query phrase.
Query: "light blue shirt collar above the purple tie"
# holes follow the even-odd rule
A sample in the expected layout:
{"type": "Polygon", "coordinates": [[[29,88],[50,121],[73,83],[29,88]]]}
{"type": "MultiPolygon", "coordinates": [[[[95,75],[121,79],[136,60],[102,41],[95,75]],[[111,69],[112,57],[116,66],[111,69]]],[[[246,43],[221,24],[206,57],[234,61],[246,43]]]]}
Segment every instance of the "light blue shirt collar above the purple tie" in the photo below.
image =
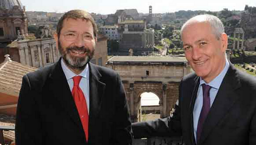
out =
{"type": "Polygon", "coordinates": [[[200,85],[202,84],[207,84],[207,85],[210,85],[212,88],[215,88],[215,89],[219,89],[220,86],[221,86],[221,82],[222,80],[224,79],[225,75],[227,74],[227,70],[229,68],[229,62],[227,61],[226,59],[226,64],[225,64],[225,67],[224,69],[221,71],[220,74],[218,74],[217,77],[215,77],[211,82],[209,82],[208,84],[206,82],[204,82],[204,80],[200,77],[200,85]]]}

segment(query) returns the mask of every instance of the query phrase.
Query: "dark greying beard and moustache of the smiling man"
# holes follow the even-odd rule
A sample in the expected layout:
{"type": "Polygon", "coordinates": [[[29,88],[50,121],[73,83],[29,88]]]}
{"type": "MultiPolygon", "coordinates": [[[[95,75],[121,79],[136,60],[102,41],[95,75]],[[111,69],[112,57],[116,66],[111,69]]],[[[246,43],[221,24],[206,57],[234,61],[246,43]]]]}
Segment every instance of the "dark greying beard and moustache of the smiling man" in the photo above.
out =
{"type": "Polygon", "coordinates": [[[90,60],[93,58],[95,47],[93,47],[92,50],[89,48],[83,47],[77,47],[77,46],[71,46],[67,47],[64,51],[61,42],[58,41],[59,51],[61,53],[61,56],[66,63],[67,66],[69,66],[72,69],[78,69],[78,70],[84,70],[87,63],[90,62],[90,60]],[[85,57],[76,57],[73,56],[71,51],[82,51],[86,53],[85,57]]]}

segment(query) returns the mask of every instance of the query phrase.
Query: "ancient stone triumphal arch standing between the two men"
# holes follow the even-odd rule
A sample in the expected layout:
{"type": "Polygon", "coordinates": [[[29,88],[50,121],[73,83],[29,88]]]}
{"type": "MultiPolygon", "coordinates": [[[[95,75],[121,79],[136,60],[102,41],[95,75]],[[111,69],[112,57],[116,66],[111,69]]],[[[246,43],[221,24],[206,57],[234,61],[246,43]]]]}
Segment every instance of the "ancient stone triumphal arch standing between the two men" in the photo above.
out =
{"type": "Polygon", "coordinates": [[[140,121],[140,95],[152,92],[160,100],[160,117],[168,117],[178,99],[183,76],[190,73],[185,57],[111,57],[106,63],[120,74],[125,87],[132,122],[140,121]]]}

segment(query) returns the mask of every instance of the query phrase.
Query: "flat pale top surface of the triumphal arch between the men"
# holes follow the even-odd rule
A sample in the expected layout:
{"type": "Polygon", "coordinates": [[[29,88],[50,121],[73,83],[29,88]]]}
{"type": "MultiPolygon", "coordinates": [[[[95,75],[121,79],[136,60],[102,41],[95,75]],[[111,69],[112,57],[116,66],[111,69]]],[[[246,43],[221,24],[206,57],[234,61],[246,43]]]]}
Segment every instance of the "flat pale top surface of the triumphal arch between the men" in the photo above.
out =
{"type": "Polygon", "coordinates": [[[187,63],[186,57],[155,57],[155,56],[114,56],[108,62],[137,63],[187,63]]]}

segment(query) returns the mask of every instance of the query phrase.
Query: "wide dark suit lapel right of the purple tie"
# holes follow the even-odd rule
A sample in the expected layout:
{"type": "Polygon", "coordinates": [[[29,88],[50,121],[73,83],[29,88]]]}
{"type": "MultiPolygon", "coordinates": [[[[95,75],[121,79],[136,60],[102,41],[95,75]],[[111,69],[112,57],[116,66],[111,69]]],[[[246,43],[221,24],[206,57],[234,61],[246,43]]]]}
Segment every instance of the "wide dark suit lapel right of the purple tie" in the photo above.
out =
{"type": "Polygon", "coordinates": [[[232,105],[238,99],[235,90],[241,86],[236,68],[230,63],[230,68],[224,77],[209,114],[204,122],[201,139],[198,143],[204,142],[207,136],[218,122],[227,114],[232,105]]]}

